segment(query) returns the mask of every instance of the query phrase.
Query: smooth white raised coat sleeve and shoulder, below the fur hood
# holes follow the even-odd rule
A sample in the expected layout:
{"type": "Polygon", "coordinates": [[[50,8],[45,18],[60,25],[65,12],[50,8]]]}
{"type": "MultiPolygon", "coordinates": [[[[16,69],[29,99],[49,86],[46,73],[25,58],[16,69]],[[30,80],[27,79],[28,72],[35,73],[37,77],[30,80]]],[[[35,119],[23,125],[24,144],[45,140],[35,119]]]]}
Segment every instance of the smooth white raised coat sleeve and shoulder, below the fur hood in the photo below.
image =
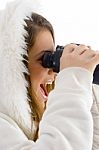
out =
{"type": "Polygon", "coordinates": [[[34,143],[11,122],[0,119],[1,150],[92,150],[92,74],[67,68],[56,78],[34,143]]]}

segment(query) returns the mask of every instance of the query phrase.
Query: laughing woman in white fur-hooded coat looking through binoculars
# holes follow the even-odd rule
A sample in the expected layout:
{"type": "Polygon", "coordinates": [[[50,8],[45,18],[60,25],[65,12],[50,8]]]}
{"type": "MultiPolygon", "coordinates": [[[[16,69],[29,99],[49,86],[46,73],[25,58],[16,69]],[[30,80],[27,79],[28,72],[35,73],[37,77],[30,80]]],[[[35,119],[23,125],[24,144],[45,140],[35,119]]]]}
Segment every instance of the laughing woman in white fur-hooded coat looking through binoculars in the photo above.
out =
{"type": "Polygon", "coordinates": [[[42,56],[55,49],[54,33],[33,13],[34,4],[12,2],[0,18],[0,149],[91,150],[92,75],[99,54],[69,44],[57,76],[44,68],[42,56]]]}

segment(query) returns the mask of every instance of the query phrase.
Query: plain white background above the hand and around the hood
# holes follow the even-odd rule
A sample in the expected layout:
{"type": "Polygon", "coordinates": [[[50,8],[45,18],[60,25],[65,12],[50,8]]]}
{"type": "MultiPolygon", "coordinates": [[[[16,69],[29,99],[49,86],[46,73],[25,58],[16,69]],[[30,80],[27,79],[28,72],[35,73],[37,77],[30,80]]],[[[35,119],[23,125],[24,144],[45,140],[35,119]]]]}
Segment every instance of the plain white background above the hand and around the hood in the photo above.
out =
{"type": "MultiPolygon", "coordinates": [[[[0,0],[0,9],[7,1],[0,0]]],[[[82,43],[99,50],[99,0],[40,0],[52,23],[56,44],[82,43]]]]}

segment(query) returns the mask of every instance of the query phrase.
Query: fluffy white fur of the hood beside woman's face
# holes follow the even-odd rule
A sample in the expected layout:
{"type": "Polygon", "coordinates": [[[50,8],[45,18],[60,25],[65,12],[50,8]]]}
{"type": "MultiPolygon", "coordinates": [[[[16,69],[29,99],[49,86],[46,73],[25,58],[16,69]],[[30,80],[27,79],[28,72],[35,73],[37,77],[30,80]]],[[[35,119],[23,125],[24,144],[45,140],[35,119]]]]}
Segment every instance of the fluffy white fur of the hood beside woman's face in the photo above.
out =
{"type": "Polygon", "coordinates": [[[27,55],[24,19],[40,11],[36,0],[16,0],[0,16],[0,112],[10,116],[29,138],[31,118],[23,75],[27,69],[22,63],[22,55],[27,55]]]}

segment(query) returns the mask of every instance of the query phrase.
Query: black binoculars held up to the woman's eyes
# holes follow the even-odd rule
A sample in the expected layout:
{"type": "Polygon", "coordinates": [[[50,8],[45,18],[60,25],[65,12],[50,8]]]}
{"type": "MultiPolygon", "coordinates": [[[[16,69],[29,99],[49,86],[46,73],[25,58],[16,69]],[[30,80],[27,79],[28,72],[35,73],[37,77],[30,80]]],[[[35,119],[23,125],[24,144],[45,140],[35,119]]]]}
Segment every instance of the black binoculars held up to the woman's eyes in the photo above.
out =
{"type": "MultiPolygon", "coordinates": [[[[56,51],[45,52],[42,57],[42,66],[44,68],[51,68],[54,72],[58,73],[60,71],[60,57],[62,56],[63,49],[63,46],[57,45],[56,51]]],[[[99,85],[99,65],[96,66],[93,73],[93,83],[99,85]]]]}

